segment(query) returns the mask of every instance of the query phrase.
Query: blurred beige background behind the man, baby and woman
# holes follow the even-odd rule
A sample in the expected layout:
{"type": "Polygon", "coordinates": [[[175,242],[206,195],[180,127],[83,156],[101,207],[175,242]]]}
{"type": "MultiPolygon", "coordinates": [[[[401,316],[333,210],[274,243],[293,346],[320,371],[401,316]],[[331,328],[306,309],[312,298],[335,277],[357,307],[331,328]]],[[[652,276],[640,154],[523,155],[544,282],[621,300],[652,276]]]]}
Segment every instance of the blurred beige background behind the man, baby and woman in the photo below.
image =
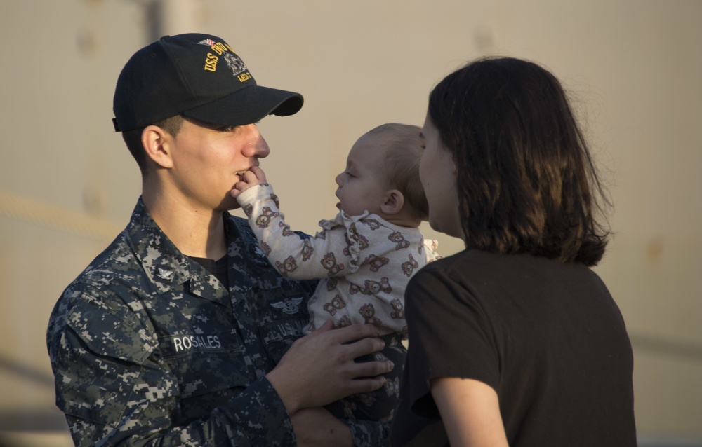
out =
{"type": "MultiPolygon", "coordinates": [[[[562,80],[614,202],[596,271],[635,354],[642,446],[702,445],[702,1],[0,0],[0,445],[72,445],[48,315],[123,228],[138,168],[112,128],[128,57],[164,34],[225,39],[261,85],[305,96],[260,123],[293,229],[336,213],[333,179],[380,123],[421,125],[464,62],[512,55],[562,80]]],[[[439,251],[461,249],[439,240],[439,251]]]]}

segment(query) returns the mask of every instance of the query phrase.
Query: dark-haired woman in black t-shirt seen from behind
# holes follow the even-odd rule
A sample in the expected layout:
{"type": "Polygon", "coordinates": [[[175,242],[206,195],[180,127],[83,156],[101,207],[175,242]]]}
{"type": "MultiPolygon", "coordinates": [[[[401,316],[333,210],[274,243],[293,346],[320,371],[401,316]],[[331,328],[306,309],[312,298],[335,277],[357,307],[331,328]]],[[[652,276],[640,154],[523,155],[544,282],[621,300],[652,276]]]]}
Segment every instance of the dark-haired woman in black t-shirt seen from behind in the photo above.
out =
{"type": "Polygon", "coordinates": [[[590,270],[602,188],[560,83],[472,62],[432,91],[423,134],[430,225],[466,249],[407,288],[392,445],[635,446],[631,346],[590,270]]]}

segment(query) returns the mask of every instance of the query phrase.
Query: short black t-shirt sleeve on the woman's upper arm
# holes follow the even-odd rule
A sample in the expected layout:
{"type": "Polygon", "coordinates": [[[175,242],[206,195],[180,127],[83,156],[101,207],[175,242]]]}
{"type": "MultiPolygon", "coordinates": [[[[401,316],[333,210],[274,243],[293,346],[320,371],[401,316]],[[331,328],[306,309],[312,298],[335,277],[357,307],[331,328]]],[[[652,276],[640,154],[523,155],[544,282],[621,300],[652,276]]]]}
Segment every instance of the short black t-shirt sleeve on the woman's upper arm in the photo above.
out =
{"type": "MultiPolygon", "coordinates": [[[[488,312],[470,288],[432,263],[409,282],[409,404],[437,418],[430,381],[439,377],[480,380],[499,392],[499,355],[488,312]]],[[[407,377],[405,377],[406,379],[407,377]]]]}

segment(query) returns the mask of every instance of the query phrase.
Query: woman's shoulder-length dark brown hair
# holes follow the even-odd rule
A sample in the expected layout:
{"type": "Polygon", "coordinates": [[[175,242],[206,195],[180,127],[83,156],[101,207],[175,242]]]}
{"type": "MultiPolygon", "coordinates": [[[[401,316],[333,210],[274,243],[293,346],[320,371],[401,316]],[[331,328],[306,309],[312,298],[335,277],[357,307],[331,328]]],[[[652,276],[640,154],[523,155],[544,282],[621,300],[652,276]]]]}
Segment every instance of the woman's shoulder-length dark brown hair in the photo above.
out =
{"type": "Polygon", "coordinates": [[[609,231],[594,214],[607,200],[549,71],[511,57],[471,62],[434,88],[428,116],[456,163],[466,247],[602,259],[609,231]]]}

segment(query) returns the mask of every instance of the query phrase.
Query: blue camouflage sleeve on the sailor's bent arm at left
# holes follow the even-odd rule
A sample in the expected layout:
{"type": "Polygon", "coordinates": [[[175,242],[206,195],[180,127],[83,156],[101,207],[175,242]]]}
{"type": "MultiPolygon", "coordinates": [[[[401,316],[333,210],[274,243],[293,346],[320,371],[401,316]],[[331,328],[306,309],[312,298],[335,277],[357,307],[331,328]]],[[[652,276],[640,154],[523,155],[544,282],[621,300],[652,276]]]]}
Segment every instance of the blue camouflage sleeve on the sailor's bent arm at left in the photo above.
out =
{"type": "Polygon", "coordinates": [[[128,308],[102,302],[69,289],[49,324],[56,404],[75,445],[295,444],[284,405],[265,378],[190,425],[176,425],[180,391],[155,335],[128,308]]]}

